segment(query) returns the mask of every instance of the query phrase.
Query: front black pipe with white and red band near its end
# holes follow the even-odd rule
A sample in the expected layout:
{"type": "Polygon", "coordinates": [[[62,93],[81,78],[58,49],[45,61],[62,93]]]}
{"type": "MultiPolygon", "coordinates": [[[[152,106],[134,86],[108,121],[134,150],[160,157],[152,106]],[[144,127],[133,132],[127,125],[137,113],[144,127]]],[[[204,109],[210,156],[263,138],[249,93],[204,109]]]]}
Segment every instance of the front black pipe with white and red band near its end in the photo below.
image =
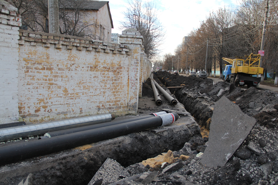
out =
{"type": "Polygon", "coordinates": [[[0,165],[139,132],[178,120],[176,113],[0,147],[0,165]]]}

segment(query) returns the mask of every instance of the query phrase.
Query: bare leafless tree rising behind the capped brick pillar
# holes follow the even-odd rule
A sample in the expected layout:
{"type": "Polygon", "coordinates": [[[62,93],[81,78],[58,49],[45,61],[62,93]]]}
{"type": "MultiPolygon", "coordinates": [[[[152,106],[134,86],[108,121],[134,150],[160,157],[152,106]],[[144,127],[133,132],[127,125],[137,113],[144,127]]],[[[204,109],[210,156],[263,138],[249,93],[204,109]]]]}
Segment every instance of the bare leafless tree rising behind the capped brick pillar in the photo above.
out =
{"type": "Polygon", "coordinates": [[[159,53],[158,47],[164,39],[163,26],[157,17],[156,5],[154,2],[141,0],[129,0],[127,11],[124,12],[122,29],[135,28],[143,36],[145,53],[150,61],[159,53]]]}

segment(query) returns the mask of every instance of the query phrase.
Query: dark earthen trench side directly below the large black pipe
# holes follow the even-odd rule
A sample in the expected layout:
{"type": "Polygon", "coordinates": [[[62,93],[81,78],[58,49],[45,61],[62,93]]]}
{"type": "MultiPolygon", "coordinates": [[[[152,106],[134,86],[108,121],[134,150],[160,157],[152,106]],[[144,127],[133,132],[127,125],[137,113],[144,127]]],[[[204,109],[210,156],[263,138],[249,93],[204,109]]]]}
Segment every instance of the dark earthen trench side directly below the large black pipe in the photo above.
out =
{"type": "Polygon", "coordinates": [[[197,127],[180,125],[167,130],[144,130],[93,143],[87,149],[83,146],[82,151],[75,148],[38,156],[20,161],[16,167],[8,164],[5,168],[10,169],[0,172],[0,184],[17,185],[32,173],[33,184],[87,185],[107,158],[128,167],[168,150],[180,150],[185,142],[198,134],[197,127]]]}

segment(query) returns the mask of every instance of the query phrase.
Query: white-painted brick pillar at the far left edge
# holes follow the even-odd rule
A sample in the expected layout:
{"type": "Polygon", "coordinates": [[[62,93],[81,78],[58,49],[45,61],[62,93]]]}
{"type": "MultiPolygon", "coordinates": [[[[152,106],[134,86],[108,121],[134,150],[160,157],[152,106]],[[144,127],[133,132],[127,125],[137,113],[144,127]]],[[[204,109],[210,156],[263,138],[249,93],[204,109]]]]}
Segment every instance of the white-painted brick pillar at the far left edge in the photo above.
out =
{"type": "Polygon", "coordinates": [[[18,112],[18,39],[20,15],[17,8],[0,1],[0,123],[16,122],[18,112]]]}

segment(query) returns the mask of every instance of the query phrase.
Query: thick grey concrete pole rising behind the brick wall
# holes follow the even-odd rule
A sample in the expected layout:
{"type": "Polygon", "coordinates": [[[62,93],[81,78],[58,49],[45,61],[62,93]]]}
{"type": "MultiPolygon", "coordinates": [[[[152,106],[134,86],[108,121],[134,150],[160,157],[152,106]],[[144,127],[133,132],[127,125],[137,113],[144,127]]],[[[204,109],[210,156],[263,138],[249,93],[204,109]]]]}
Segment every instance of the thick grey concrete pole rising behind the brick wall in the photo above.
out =
{"type": "Polygon", "coordinates": [[[49,33],[59,34],[59,5],[58,0],[48,0],[49,33]]]}

